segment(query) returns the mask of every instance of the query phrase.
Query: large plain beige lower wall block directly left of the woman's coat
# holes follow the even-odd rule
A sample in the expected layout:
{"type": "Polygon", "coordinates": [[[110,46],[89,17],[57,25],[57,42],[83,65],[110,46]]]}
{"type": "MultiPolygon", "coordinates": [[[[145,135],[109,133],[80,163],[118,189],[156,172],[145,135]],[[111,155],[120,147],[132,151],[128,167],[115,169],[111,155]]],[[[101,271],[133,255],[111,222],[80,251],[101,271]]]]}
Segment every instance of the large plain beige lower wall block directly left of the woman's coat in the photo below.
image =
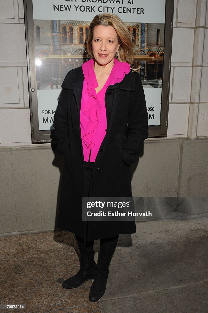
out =
{"type": "Polygon", "coordinates": [[[51,146],[13,148],[18,231],[55,227],[59,167],[51,146]]]}

